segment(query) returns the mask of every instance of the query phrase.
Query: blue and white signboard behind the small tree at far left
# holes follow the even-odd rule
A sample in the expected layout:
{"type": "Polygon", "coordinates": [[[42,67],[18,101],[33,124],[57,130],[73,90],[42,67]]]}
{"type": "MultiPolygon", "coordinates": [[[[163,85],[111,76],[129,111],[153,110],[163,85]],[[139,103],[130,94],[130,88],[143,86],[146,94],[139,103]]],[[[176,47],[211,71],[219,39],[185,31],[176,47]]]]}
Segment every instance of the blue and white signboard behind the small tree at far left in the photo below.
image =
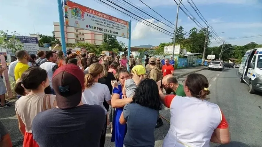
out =
{"type": "MultiPolygon", "coordinates": [[[[10,38],[11,35],[8,35],[7,38],[10,38]]],[[[38,39],[37,37],[29,37],[29,36],[15,36],[16,39],[23,43],[23,49],[26,50],[29,54],[37,54],[39,50],[38,39]]],[[[11,49],[6,49],[7,54],[14,55],[11,49]]]]}

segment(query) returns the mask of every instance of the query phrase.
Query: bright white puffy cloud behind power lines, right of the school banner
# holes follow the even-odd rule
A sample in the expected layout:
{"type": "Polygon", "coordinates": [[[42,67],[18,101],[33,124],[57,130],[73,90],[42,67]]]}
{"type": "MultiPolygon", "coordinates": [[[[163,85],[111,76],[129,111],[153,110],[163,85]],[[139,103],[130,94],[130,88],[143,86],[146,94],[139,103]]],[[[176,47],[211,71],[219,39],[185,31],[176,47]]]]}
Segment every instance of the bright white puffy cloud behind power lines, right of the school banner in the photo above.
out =
{"type": "MultiPolygon", "coordinates": [[[[152,37],[152,36],[157,36],[159,35],[161,32],[159,32],[156,29],[159,29],[156,26],[163,26],[163,24],[161,22],[156,22],[154,19],[146,19],[146,20],[142,20],[141,22],[138,22],[136,24],[136,26],[134,27],[132,34],[131,34],[131,39],[144,39],[146,37],[152,37]],[[148,25],[148,26],[147,26],[148,25]],[[152,28],[151,26],[153,26],[154,28],[152,28]]],[[[159,26],[159,27],[161,27],[159,26]]],[[[171,29],[171,28],[170,28],[171,29]]],[[[161,29],[159,29],[161,30],[161,29]]],[[[172,32],[172,31],[170,31],[172,32]]],[[[167,36],[167,35],[164,35],[167,36]]]]}

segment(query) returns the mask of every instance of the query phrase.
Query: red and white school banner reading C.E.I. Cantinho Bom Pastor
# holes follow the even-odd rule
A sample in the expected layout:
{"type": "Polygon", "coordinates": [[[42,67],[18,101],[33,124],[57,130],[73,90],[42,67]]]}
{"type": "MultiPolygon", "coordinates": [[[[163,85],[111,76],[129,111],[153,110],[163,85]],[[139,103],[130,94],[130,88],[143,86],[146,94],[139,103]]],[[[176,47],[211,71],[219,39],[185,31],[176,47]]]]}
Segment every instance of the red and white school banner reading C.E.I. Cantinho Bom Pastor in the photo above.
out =
{"type": "Polygon", "coordinates": [[[128,38],[128,21],[104,14],[72,1],[64,3],[65,25],[128,38]]]}

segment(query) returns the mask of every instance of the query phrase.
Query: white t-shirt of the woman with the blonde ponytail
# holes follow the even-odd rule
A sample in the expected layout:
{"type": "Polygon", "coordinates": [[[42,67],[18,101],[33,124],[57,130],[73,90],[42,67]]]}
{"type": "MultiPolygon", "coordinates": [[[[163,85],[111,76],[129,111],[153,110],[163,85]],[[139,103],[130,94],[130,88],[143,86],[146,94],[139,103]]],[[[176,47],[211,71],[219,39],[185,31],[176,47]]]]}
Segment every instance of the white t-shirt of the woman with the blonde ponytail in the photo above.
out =
{"type": "Polygon", "coordinates": [[[110,91],[105,84],[96,82],[93,86],[85,88],[82,93],[82,101],[84,104],[100,105],[103,107],[105,112],[107,112],[105,106],[103,105],[104,100],[111,100],[110,91]]]}

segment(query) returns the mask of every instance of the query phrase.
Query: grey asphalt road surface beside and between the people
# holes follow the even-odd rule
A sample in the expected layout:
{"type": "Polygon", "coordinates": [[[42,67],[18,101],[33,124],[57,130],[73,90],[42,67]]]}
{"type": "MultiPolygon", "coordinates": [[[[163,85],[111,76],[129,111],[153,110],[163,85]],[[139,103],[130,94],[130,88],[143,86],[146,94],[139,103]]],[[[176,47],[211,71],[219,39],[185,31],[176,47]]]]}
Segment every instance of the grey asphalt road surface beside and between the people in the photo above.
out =
{"type": "MultiPolygon", "coordinates": [[[[203,70],[197,72],[205,75],[210,81],[210,101],[220,106],[230,126],[232,142],[228,145],[211,143],[211,147],[262,147],[262,96],[247,93],[247,85],[239,82],[239,78],[236,75],[237,70],[225,69],[222,72],[203,70]]],[[[182,80],[185,78],[179,78],[179,83],[182,83],[182,80]]],[[[14,114],[13,110],[14,108],[1,109],[0,118],[11,131],[12,139],[15,139],[17,136],[21,136],[17,134],[18,128],[14,127],[17,126],[17,121],[14,120],[14,117],[9,117],[10,115],[5,116],[3,113],[3,111],[6,113],[11,111],[14,114]]],[[[168,120],[170,119],[170,113],[167,108],[160,111],[160,114],[168,120]]],[[[169,123],[167,121],[164,121],[164,126],[156,129],[156,147],[162,146],[168,129],[169,123]]],[[[105,146],[113,147],[114,143],[110,141],[111,134],[109,130],[106,136],[105,146]]]]}

